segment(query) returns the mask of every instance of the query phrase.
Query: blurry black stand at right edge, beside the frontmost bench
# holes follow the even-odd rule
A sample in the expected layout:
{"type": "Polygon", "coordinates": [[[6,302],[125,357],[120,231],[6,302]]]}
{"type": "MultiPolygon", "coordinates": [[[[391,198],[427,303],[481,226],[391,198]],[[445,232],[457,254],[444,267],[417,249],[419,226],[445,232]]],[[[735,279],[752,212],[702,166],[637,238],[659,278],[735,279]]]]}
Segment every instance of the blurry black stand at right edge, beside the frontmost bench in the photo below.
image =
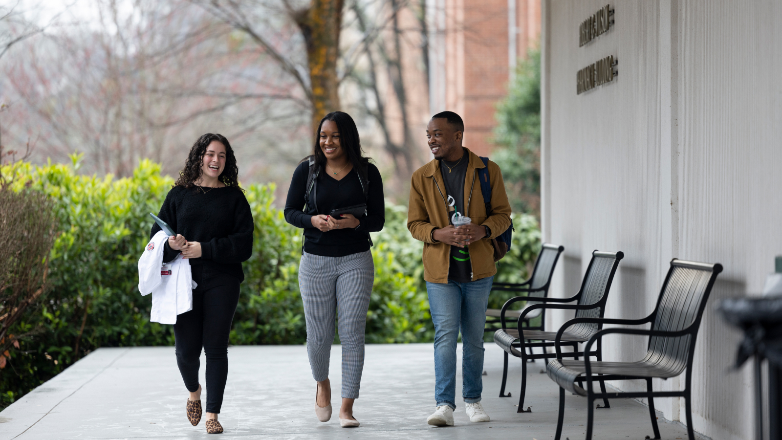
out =
{"type": "Polygon", "coordinates": [[[728,298],[719,304],[726,321],[744,330],[736,367],[755,358],[755,438],[762,440],[762,408],[769,408],[769,438],[782,440],[782,296],[728,298]],[[762,399],[763,359],[769,363],[769,401],[762,399]]]}

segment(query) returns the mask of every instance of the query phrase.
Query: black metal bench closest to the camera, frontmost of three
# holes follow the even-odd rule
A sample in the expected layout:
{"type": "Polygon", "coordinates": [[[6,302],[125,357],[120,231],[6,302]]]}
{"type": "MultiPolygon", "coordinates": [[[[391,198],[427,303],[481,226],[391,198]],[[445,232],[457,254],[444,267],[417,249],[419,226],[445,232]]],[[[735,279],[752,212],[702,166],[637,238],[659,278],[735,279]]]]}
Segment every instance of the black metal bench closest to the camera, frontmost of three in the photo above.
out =
{"type": "Polygon", "coordinates": [[[655,397],[683,397],[685,413],[687,413],[687,435],[690,440],[695,440],[692,429],[691,410],[691,386],[692,363],[695,353],[695,337],[698,336],[698,328],[701,326],[701,316],[708,301],[708,294],[712,291],[717,274],[722,272],[723,266],[719,264],[706,264],[696,261],[683,261],[674,258],[662,290],[657,300],[655,311],[643,319],[603,319],[579,317],[571,319],[561,326],[555,338],[557,359],[547,365],[548,376],[559,385],[559,417],[557,420],[557,433],[555,440],[559,440],[562,434],[562,421],[565,417],[565,390],[578,395],[587,396],[587,440],[592,438],[595,399],[619,399],[619,398],[647,398],[649,402],[649,416],[651,426],[655,431],[655,438],[660,438],[655,416],[655,397]],[[585,352],[589,352],[594,344],[600,344],[601,337],[606,334],[637,334],[649,337],[647,354],[637,362],[597,362],[584,357],[582,361],[564,360],[561,355],[569,355],[561,352],[561,345],[569,345],[566,337],[571,326],[619,324],[641,325],[651,323],[651,330],[610,328],[600,330],[587,341],[585,352]],[[653,391],[651,380],[653,377],[667,379],[676,377],[687,369],[683,391],[653,391]],[[600,376],[596,376],[596,375],[600,376]],[[646,380],[646,392],[615,392],[607,393],[601,388],[597,394],[593,389],[594,380],[599,380],[601,385],[605,380],[646,380]],[[579,384],[576,384],[578,382],[579,384]],[[583,383],[587,382],[587,387],[583,383]]]}

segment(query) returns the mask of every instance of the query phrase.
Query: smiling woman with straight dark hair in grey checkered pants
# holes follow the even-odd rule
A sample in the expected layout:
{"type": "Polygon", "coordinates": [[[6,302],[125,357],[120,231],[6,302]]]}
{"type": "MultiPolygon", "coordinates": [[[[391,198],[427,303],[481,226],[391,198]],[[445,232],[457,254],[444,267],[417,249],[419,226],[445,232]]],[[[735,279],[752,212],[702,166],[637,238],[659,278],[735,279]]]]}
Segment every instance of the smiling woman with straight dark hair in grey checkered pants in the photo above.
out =
{"type": "Polygon", "coordinates": [[[307,319],[307,355],[317,381],[315,413],[332,417],[328,361],[339,313],[342,407],[339,423],[358,427],[353,401],[364,368],[364,325],[375,265],[369,233],[386,221],[380,172],[362,156],[356,124],[343,112],[327,114],[317,128],[312,156],[293,172],[285,220],[304,229],[299,284],[307,319]],[[361,207],[364,205],[364,207],[361,207]],[[332,215],[353,207],[351,214],[332,215]]]}

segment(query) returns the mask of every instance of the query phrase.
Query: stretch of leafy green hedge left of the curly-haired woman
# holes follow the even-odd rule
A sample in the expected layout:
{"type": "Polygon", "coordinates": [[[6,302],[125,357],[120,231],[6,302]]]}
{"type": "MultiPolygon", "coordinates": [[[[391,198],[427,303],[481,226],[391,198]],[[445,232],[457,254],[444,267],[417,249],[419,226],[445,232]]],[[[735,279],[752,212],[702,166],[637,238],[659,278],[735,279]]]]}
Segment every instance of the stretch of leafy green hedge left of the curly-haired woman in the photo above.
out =
{"type": "Polygon", "coordinates": [[[78,175],[73,164],[2,167],[16,173],[16,190],[41,191],[52,200],[58,236],[49,260],[48,295],[14,333],[39,330],[20,342],[0,373],[2,406],[18,399],[101,346],[170,344],[170,326],[149,323],[149,297],[138,284],[138,253],[149,237],[145,215],[157,211],[171,179],[145,160],[130,179],[78,175]],[[13,394],[11,394],[13,393],[13,394]]]}

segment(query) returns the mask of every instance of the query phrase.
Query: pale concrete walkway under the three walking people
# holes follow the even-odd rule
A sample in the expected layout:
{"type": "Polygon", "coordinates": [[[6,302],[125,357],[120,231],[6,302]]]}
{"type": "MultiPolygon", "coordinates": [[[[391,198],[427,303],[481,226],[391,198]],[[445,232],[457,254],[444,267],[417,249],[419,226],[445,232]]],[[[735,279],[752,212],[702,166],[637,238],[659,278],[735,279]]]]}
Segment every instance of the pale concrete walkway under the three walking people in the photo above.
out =
{"type": "MultiPolygon", "coordinates": [[[[486,344],[482,402],[492,421],[469,423],[464,404],[458,402],[454,427],[425,424],[435,403],[432,344],[368,345],[361,399],[354,409],[361,427],[354,429],[339,427],[337,418],[339,346],[332,350],[335,415],[325,424],[315,418],[315,383],[305,347],[231,347],[228,359],[228,387],[220,415],[226,432],[218,437],[223,440],[554,438],[558,388],[539,373],[541,363],[530,366],[525,406],[532,406],[533,412],[516,413],[515,397],[497,397],[502,352],[494,344],[486,344]]],[[[203,377],[205,359],[201,362],[203,377]]],[[[511,365],[509,389],[516,396],[521,363],[511,359],[511,365]]],[[[457,387],[460,395],[461,386],[457,387]]],[[[197,427],[188,423],[186,396],[174,348],[101,348],[2,411],[0,439],[212,438],[203,420],[197,427]]],[[[681,424],[665,422],[662,413],[658,416],[662,438],[687,438],[681,424]]],[[[647,407],[633,400],[612,400],[612,408],[597,410],[595,417],[596,439],[652,436],[647,407]]],[[[569,395],[562,440],[583,438],[585,420],[586,399],[569,395]]]]}

